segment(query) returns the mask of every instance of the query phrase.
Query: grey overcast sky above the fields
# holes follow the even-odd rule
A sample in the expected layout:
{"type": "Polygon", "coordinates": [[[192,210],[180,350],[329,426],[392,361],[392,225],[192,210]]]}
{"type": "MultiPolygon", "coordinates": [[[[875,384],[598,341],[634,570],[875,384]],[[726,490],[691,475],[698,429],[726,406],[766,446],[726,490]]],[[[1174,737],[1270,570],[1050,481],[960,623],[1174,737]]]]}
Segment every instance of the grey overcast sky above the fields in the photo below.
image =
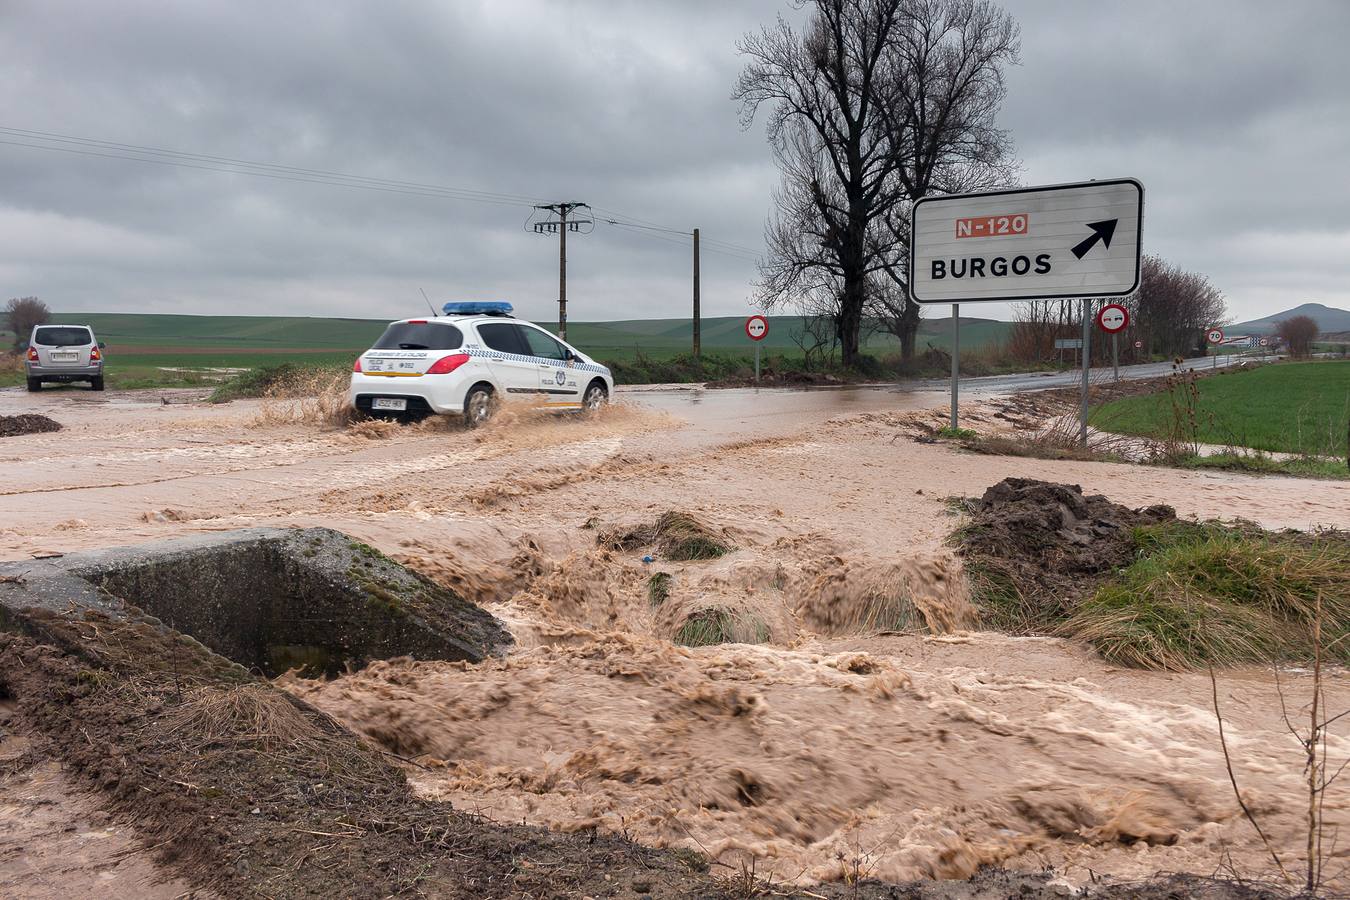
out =
{"type": "MultiPolygon", "coordinates": [[[[1237,320],[1350,308],[1350,3],[1003,5],[1022,27],[1002,123],[1025,184],[1139,178],[1146,251],[1208,274],[1237,320]]],[[[547,320],[558,242],[525,229],[528,206],[580,200],[698,225],[705,314],[745,313],[778,175],[729,94],[737,39],[779,12],[801,18],[770,0],[0,0],[0,294],[396,317],[425,289],[547,320]],[[107,159],[12,130],[497,202],[107,159]]],[[[601,221],[568,243],[574,320],[684,316],[688,298],[679,236],[601,221]]]]}

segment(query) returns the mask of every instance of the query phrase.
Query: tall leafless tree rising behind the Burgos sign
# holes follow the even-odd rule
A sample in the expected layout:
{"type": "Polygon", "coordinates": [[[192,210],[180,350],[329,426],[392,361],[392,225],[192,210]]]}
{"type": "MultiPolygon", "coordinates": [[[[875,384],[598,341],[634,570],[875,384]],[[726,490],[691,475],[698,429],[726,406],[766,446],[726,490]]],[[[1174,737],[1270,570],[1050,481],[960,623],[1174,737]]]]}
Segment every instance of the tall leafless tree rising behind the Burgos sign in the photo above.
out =
{"type": "Polygon", "coordinates": [[[1002,69],[1017,61],[1018,28],[988,0],[811,5],[802,34],[779,19],[747,35],[740,49],[749,62],[732,96],[747,127],[768,107],[768,139],[783,173],[765,228],[761,301],[772,308],[805,293],[837,297],[836,333],[852,366],[869,313],[913,354],[910,204],[999,182],[1014,170],[994,119],[1004,96],[1002,69]],[[882,278],[899,293],[878,291],[882,278]]]}

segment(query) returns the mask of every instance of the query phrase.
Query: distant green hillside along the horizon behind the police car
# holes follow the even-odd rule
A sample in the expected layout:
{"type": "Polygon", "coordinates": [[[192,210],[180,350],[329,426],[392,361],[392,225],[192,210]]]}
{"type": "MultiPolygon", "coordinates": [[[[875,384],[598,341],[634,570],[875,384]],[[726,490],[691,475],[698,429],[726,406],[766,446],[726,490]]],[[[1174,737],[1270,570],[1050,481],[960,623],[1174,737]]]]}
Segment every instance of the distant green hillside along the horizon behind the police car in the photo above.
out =
{"type": "MultiPolygon", "coordinates": [[[[358,352],[383,331],[386,320],[319,318],[302,316],[171,316],[139,313],[59,313],[57,322],[93,327],[99,339],[119,354],[286,354],[358,352]]],[[[539,322],[556,331],[554,322],[539,322]]],[[[1002,341],[1008,322],[961,317],[961,345],[976,348],[1002,341]]],[[[693,322],[688,318],[630,318],[608,322],[571,321],[567,337],[599,358],[630,358],[641,352],[668,356],[690,349],[693,322]]],[[[796,352],[794,337],[803,332],[801,316],[771,316],[763,347],[770,352],[796,352]]],[[[927,344],[949,347],[950,318],[923,320],[918,349],[927,344]]],[[[744,316],[714,316],[703,320],[703,348],[749,352],[744,316]]],[[[867,351],[888,354],[898,348],[890,335],[873,335],[867,351]]]]}

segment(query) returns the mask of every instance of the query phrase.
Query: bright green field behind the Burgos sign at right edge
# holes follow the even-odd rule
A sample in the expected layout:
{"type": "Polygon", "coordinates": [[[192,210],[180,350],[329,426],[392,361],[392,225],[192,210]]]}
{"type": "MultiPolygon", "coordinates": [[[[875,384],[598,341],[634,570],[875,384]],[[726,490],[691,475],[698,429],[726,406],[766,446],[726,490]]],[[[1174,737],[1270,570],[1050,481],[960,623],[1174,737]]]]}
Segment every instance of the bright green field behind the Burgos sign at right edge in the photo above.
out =
{"type": "MultiPolygon", "coordinates": [[[[1204,444],[1310,456],[1346,455],[1350,362],[1280,363],[1202,378],[1196,440],[1204,444]]],[[[1165,439],[1173,425],[1166,391],[1112,401],[1092,414],[1096,428],[1165,439]]]]}

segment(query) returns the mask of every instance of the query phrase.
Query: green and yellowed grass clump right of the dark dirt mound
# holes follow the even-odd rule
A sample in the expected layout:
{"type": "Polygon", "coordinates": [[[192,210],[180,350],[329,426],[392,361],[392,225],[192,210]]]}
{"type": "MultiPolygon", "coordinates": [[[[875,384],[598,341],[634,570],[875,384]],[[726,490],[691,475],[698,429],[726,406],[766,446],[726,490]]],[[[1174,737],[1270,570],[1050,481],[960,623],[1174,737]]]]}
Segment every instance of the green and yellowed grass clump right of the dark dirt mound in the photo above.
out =
{"type": "Polygon", "coordinates": [[[1137,529],[1139,559],[1085,599],[1061,633],[1125,665],[1307,658],[1322,603],[1324,646],[1350,661],[1350,541],[1176,522],[1137,529]]]}

